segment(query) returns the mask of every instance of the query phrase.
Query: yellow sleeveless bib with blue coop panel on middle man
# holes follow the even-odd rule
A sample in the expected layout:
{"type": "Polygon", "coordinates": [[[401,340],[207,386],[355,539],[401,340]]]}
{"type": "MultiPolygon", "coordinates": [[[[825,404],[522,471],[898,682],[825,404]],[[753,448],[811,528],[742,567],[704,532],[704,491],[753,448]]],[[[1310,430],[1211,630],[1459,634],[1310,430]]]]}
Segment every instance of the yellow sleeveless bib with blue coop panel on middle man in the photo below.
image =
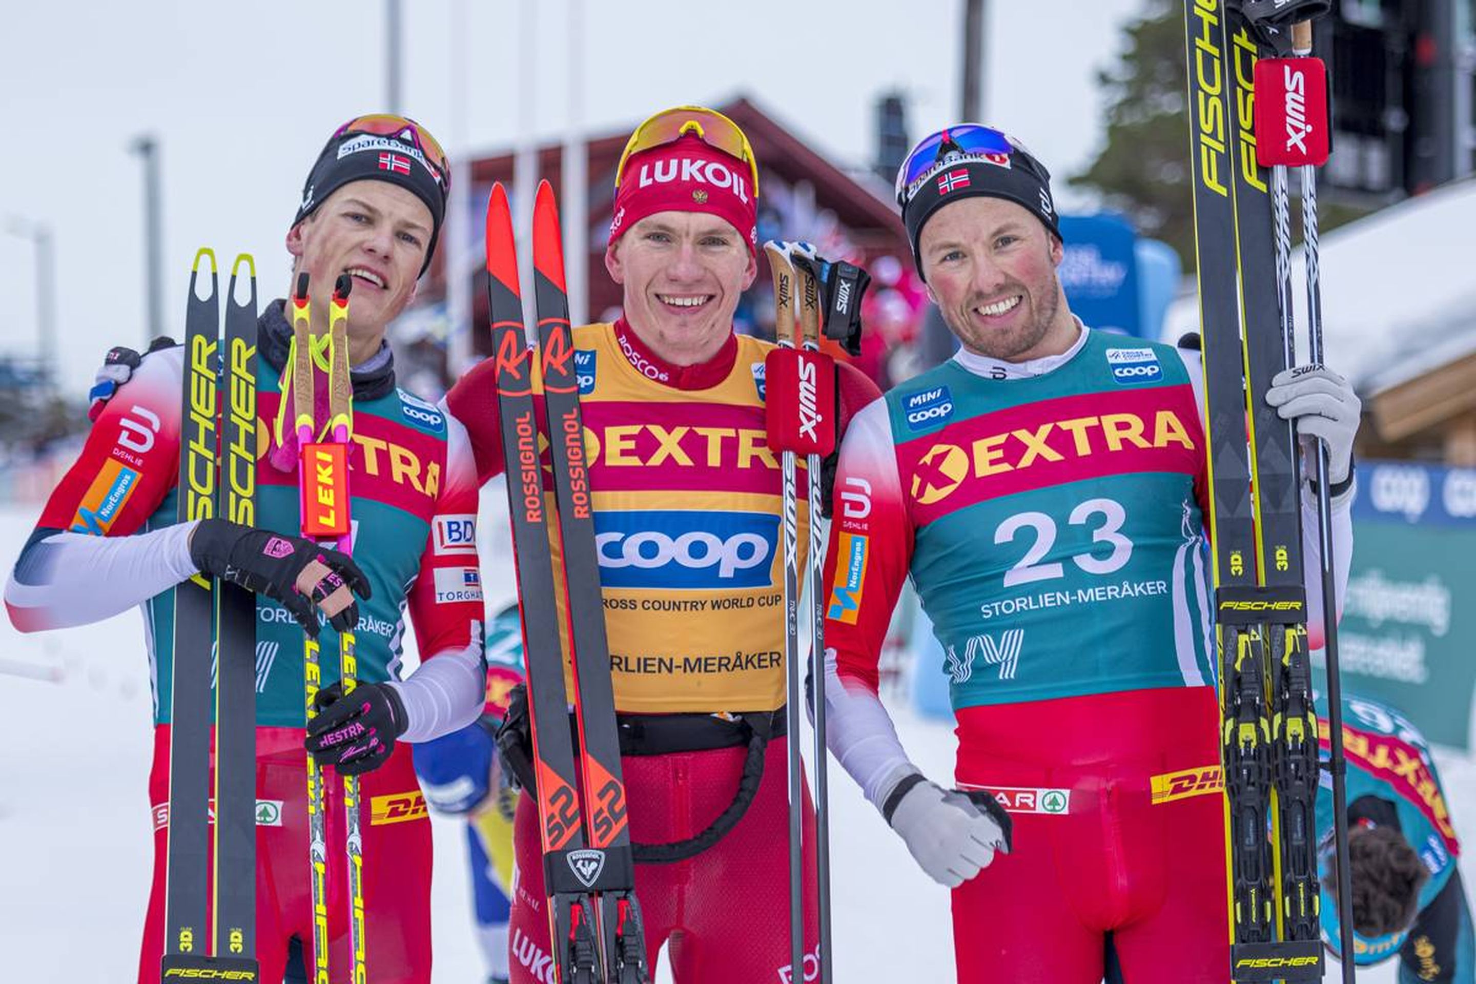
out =
{"type": "MultiPolygon", "coordinates": [[[[782,488],[763,423],[772,345],[739,336],[732,370],[708,389],[646,378],[611,325],[574,329],[574,348],[615,708],[781,707],[782,488]]],[[[799,475],[803,550],[803,459],[799,475]]]]}

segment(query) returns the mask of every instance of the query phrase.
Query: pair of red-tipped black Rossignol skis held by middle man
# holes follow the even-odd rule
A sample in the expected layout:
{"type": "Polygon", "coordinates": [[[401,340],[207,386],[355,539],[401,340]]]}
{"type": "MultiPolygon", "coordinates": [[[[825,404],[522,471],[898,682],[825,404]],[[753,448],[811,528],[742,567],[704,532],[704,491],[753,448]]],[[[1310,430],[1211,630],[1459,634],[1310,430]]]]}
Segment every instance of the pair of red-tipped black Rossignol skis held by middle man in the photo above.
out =
{"type": "Polygon", "coordinates": [[[523,320],[512,214],[500,183],[487,202],[486,243],[497,413],[527,654],[531,792],[539,807],[554,960],[564,983],[645,984],[564,258],[548,183],[539,187],[533,254],[542,333],[537,375],[545,381],[558,522],[549,521],[534,350],[523,320]],[[554,571],[551,528],[561,536],[562,578],[554,571]],[[567,633],[561,631],[555,592],[565,599],[567,633]],[[564,645],[574,665],[577,769],[574,739],[564,724],[571,704],[564,687],[564,645]]]}

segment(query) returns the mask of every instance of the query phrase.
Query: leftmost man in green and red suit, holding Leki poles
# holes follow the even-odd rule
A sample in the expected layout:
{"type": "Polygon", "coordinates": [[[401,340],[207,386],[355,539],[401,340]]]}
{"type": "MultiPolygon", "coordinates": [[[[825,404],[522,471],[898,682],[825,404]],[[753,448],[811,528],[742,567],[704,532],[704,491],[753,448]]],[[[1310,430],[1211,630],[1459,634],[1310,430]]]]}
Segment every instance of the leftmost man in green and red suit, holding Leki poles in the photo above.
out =
{"type": "MultiPolygon", "coordinates": [[[[483,708],[477,477],[463,428],[444,409],[396,388],[385,326],[415,297],[446,208],[444,153],[407,118],[360,117],[328,140],[286,233],[292,282],[310,274],[313,320],[328,323],[339,274],[348,308],[353,382],[350,496],[353,559],[292,536],[300,528],[297,448],[275,440],[257,462],[258,527],[177,522],[183,350],[137,361],[131,381],[99,401],[80,459],[52,493],[6,586],[22,631],[80,626],[140,606],[154,690],[154,888],[139,981],[159,977],[168,836],[173,592],[205,572],[257,592],[257,957],[263,981],[300,974],[311,954],[306,813],[303,633],[322,628],[322,673],[338,677],[338,631],[357,636],[354,699],[320,692],[314,755],[365,772],[362,804],[366,952],[370,984],[431,980],[431,831],[409,748],[472,721],[483,708]],[[350,593],[360,596],[356,602],[350,593]],[[422,664],[400,679],[404,614],[422,664]],[[319,732],[317,724],[323,729],[319,732]],[[370,741],[337,742],[350,730],[370,741]],[[399,742],[396,739],[400,739],[399,742]],[[329,751],[338,748],[339,751],[329,751]]],[[[258,434],[270,435],[289,375],[283,301],[258,322],[258,434]]],[[[323,387],[319,387],[322,392],[323,387]]],[[[317,407],[325,423],[326,401],[317,407]]],[[[208,654],[180,654],[208,658],[208,654]]],[[[80,723],[84,726],[86,723],[80,723]]],[[[99,741],[106,741],[99,735],[99,741]]],[[[329,965],[350,966],[342,783],[326,782],[329,965]]]]}

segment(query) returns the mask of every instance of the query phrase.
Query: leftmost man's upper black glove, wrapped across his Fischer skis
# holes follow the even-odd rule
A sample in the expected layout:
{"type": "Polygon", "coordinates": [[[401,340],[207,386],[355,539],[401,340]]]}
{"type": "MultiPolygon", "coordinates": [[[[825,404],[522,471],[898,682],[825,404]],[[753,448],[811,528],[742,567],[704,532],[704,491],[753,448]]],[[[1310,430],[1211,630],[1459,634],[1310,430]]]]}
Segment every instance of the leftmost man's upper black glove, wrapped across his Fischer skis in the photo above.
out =
{"type": "Polygon", "coordinates": [[[202,574],[286,605],[303,631],[314,637],[319,608],[344,631],[359,624],[354,595],[370,593],[369,578],[348,555],[229,519],[201,519],[189,538],[189,556],[202,574]]]}

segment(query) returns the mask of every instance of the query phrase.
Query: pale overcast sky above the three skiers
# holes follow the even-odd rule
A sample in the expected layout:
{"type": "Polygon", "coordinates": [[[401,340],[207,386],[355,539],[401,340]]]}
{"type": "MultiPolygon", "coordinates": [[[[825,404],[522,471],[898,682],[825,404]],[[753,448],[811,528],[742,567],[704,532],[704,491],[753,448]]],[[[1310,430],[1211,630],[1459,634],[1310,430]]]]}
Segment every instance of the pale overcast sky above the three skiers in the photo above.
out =
{"type": "MultiPolygon", "coordinates": [[[[883,90],[911,97],[914,137],[956,114],[961,0],[582,3],[583,115],[596,131],[745,93],[822,153],[865,164],[883,90]]],[[[530,118],[518,109],[528,60],[520,60],[523,3],[401,6],[403,111],[453,156],[511,146],[530,118]]],[[[1024,140],[1054,174],[1070,174],[1101,143],[1095,72],[1111,63],[1141,0],[987,6],[987,121],[1024,140]]],[[[176,336],[199,245],[227,264],[254,252],[263,298],[282,295],[282,238],[308,165],[334,127],[385,103],[384,7],[0,0],[0,106],[10,134],[0,230],[12,218],[52,227],[66,388],[86,388],[109,344],[145,336],[142,170],[131,139],[151,131],[162,146],[164,313],[176,336]]],[[[568,6],[539,7],[533,118],[537,133],[555,136],[570,118],[568,6]]],[[[28,240],[0,235],[6,351],[35,351],[32,257],[28,240]]]]}

